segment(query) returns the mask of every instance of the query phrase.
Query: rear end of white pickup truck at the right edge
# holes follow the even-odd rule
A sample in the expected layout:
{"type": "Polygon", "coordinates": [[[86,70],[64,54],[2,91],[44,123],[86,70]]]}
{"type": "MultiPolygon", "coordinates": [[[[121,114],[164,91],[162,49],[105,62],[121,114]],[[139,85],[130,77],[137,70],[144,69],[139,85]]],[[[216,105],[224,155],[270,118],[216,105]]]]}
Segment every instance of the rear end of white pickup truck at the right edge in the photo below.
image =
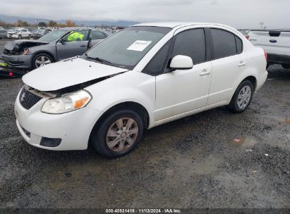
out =
{"type": "Polygon", "coordinates": [[[267,52],[267,66],[279,64],[290,68],[290,31],[250,31],[247,38],[267,52]]]}

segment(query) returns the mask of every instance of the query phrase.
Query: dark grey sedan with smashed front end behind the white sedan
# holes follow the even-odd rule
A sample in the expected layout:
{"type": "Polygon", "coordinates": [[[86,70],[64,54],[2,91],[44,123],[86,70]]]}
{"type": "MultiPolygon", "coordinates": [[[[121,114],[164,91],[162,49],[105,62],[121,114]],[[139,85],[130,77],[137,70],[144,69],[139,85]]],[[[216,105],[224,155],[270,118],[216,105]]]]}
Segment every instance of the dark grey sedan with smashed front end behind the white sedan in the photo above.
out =
{"type": "Polygon", "coordinates": [[[8,42],[1,57],[25,73],[26,70],[83,55],[87,49],[106,37],[107,34],[95,29],[64,28],[49,32],[37,40],[8,42]],[[68,41],[68,37],[75,33],[83,35],[83,39],[68,41]]]}

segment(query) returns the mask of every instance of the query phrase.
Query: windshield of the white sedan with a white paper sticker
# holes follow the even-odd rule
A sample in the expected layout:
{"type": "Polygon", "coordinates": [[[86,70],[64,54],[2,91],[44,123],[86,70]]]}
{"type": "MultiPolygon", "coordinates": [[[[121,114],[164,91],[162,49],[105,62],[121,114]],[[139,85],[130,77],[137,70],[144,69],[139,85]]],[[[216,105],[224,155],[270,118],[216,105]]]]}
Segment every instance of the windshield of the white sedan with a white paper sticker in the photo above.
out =
{"type": "Polygon", "coordinates": [[[170,31],[168,27],[128,27],[97,44],[84,57],[133,69],[152,46],[170,31]]]}

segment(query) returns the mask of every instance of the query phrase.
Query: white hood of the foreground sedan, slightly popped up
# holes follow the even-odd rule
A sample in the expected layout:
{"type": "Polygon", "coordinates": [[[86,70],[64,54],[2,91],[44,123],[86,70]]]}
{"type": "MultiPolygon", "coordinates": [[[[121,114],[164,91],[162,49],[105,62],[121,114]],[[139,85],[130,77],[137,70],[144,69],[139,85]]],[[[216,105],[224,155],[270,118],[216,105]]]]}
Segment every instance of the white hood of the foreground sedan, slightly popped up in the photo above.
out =
{"type": "Polygon", "coordinates": [[[43,92],[56,91],[127,71],[123,68],[72,58],[32,70],[22,77],[28,86],[43,92]]]}

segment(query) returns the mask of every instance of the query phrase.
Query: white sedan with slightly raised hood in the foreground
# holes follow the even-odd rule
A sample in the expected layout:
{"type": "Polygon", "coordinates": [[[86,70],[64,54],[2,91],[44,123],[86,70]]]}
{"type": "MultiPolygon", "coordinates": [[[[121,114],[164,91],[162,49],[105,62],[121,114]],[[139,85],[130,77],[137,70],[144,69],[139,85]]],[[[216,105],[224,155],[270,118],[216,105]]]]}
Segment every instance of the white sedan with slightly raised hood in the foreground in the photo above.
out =
{"type": "Polygon", "coordinates": [[[33,146],[80,150],[90,141],[114,158],[132,151],[144,129],[218,106],[245,111],[266,78],[264,51],[234,28],[134,25],[24,75],[16,123],[33,146]]]}

